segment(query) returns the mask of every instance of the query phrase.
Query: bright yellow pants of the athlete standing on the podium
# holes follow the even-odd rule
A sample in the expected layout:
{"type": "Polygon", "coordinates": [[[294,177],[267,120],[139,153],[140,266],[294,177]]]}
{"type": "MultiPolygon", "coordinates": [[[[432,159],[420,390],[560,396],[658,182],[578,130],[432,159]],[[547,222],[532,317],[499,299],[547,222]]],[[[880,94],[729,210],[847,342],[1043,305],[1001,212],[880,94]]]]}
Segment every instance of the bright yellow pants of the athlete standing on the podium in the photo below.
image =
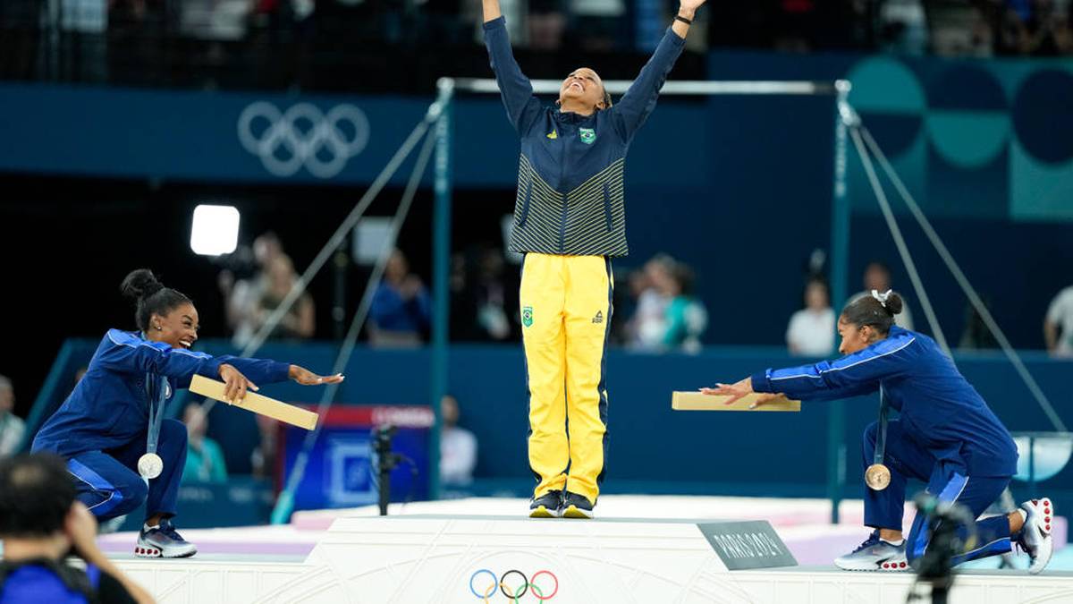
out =
{"type": "Polygon", "coordinates": [[[534,497],[563,489],[596,503],[603,478],[603,360],[614,286],[603,256],[527,254],[521,325],[534,497]],[[569,432],[568,432],[569,426],[569,432]]]}

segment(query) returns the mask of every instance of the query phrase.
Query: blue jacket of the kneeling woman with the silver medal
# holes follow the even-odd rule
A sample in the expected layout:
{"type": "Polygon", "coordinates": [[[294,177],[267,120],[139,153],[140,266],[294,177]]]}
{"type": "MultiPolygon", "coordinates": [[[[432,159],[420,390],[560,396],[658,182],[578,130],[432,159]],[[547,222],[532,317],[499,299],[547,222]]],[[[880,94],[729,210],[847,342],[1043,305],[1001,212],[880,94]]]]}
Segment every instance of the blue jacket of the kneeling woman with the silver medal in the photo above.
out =
{"type": "Polygon", "coordinates": [[[219,379],[220,364],[234,365],[259,386],[285,382],[290,364],[239,357],[211,357],[163,342],[150,342],[139,332],[108,330],[89,361],[86,375],[33,438],[33,450],[63,457],[107,450],[145,441],[149,401],[166,379],[165,403],[194,374],[219,379]]]}

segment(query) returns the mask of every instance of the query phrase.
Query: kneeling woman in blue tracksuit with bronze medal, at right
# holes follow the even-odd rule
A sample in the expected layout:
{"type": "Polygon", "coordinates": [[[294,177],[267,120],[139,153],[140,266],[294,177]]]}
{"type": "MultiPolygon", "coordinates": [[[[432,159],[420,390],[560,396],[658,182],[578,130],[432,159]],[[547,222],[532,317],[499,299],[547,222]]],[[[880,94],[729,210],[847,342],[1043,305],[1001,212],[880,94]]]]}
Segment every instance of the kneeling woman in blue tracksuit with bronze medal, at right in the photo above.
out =
{"type": "MultiPolygon", "coordinates": [[[[890,406],[900,413],[886,432],[883,464],[891,470],[891,484],[884,490],[865,491],[865,526],[874,531],[857,549],[835,560],[849,571],[906,570],[926,552],[930,537],[925,515],[917,514],[909,536],[901,536],[908,478],[927,483],[927,492],[940,502],[964,505],[979,518],[1017,469],[1017,448],[1010,433],[951,358],[930,337],[893,325],[901,307],[897,293],[873,290],[872,296],[848,304],[838,319],[842,336],[838,351],[844,357],[769,369],[734,385],[702,389],[730,394],[733,402],[751,392],[822,401],[883,388],[890,406]]],[[[865,466],[873,461],[877,432],[876,422],[865,429],[865,466]]],[[[1017,543],[1032,558],[1029,571],[1039,573],[1050,560],[1053,519],[1050,500],[1041,499],[1025,502],[1009,515],[980,520],[975,543],[952,562],[1005,553],[1017,543]]],[[[966,528],[958,528],[958,533],[965,543],[966,528]]]]}

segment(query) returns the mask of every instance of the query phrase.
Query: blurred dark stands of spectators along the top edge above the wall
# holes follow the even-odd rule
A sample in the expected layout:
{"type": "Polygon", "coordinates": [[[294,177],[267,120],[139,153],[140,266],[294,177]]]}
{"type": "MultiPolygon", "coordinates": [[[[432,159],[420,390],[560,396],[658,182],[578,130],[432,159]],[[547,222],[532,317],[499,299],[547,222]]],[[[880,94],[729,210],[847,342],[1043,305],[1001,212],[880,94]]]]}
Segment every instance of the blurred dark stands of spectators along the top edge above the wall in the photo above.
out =
{"type": "MultiPolygon", "coordinates": [[[[502,10],[519,48],[644,54],[659,41],[674,5],[665,0],[504,0],[502,10]]],[[[695,52],[1058,56],[1073,54],[1071,12],[1070,0],[714,2],[699,14],[687,45],[695,52]]],[[[3,73],[32,76],[41,69],[34,57],[50,48],[63,56],[45,62],[60,71],[106,80],[108,66],[130,55],[255,66],[261,73],[273,61],[294,63],[311,56],[338,61],[353,55],[348,64],[368,66],[382,44],[439,57],[480,46],[482,34],[475,0],[4,0],[0,43],[3,73]],[[52,48],[58,38],[46,31],[74,38],[52,48]],[[98,43],[104,39],[109,44],[98,43]],[[177,52],[162,55],[163,39],[176,42],[177,52]],[[289,51],[277,55],[273,47],[289,51]],[[77,64],[68,64],[72,61],[77,64]]]]}

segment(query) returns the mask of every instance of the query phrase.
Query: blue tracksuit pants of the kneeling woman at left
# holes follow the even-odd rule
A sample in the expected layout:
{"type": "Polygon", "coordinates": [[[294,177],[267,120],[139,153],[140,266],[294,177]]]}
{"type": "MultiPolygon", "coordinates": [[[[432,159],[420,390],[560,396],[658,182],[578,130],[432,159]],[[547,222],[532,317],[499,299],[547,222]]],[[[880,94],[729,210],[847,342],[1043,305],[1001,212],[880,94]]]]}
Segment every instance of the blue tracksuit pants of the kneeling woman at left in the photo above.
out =
{"type": "Polygon", "coordinates": [[[145,480],[137,473],[137,460],[145,455],[145,438],[104,451],[87,451],[68,460],[76,478],[78,499],[98,520],[130,514],[144,502],[146,517],[175,516],[179,479],[187,463],[187,427],[165,419],[160,428],[157,455],[164,461],[160,476],[145,480]]]}

